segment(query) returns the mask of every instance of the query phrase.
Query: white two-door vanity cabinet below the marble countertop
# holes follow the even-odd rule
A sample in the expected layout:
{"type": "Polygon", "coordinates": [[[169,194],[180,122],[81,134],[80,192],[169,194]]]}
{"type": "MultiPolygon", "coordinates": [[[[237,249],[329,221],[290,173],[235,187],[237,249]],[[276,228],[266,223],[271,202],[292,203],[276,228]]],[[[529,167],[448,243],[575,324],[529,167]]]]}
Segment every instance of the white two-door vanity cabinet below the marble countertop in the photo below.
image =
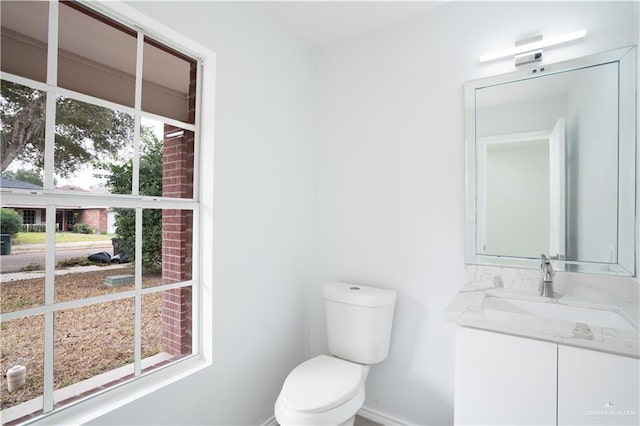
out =
{"type": "Polygon", "coordinates": [[[456,425],[638,425],[640,360],[458,327],[456,425]]]}

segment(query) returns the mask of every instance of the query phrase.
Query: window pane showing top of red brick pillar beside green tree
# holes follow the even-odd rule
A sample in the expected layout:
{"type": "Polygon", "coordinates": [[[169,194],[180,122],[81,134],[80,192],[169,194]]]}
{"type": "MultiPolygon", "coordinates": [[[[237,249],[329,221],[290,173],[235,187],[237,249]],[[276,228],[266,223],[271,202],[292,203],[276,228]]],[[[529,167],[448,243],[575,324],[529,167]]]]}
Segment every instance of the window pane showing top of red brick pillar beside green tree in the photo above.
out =
{"type": "Polygon", "coordinates": [[[141,135],[140,194],[193,198],[193,132],[144,119],[141,135]]]}

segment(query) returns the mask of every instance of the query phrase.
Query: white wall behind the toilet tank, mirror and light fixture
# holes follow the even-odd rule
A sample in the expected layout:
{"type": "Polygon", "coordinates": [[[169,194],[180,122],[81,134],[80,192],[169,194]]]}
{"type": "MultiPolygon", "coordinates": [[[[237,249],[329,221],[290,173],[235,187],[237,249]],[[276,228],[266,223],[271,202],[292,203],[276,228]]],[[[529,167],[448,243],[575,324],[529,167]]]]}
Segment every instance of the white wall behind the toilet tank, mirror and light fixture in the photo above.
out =
{"type": "Polygon", "coordinates": [[[413,424],[453,421],[454,326],[463,283],[466,80],[512,71],[478,57],[541,32],[586,29],[545,60],[632,45],[637,3],[450,2],[318,54],[312,353],[324,352],[321,285],[396,289],[389,358],[365,406],[413,424]]]}

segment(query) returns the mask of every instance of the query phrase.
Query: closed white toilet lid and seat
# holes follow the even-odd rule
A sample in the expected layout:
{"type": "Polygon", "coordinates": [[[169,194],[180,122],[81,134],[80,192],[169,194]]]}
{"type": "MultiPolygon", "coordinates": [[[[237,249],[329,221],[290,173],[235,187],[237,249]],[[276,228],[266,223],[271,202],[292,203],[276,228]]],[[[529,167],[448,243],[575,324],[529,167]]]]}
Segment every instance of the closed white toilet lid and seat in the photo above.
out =
{"type": "Polygon", "coordinates": [[[298,365],[284,382],[280,401],[299,413],[329,411],[362,389],[369,366],[319,355],[298,365]]]}

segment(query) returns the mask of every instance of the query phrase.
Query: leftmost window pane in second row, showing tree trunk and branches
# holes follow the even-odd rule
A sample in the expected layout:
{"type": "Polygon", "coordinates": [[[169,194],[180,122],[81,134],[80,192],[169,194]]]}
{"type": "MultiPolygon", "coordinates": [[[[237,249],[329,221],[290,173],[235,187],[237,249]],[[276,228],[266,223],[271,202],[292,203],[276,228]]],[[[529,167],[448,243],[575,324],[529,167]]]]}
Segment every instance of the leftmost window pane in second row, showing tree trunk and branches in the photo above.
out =
{"type": "Polygon", "coordinates": [[[5,80],[0,82],[0,90],[0,186],[42,189],[46,95],[5,80]]]}

